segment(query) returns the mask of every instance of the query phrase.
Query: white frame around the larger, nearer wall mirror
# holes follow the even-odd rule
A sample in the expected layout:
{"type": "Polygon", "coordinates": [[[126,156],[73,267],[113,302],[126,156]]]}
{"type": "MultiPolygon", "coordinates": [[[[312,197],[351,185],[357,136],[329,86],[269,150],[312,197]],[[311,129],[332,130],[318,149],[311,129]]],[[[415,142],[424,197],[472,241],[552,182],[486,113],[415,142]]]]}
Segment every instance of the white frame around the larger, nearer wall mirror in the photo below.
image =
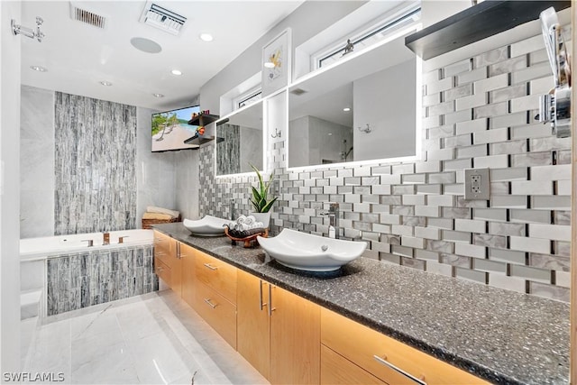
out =
{"type": "Polygon", "coordinates": [[[406,28],[402,28],[400,30],[398,30],[397,32],[391,33],[389,36],[387,36],[386,38],[382,39],[381,41],[371,45],[370,47],[367,47],[364,50],[359,50],[359,51],[353,51],[350,54],[347,54],[346,57],[344,57],[342,60],[339,60],[337,62],[334,62],[326,67],[322,67],[320,69],[316,69],[314,71],[308,72],[306,75],[298,78],[296,81],[292,82],[289,84],[289,86],[286,89],[286,93],[287,93],[287,110],[288,110],[288,114],[287,114],[287,140],[285,143],[285,147],[286,147],[286,154],[287,154],[287,170],[325,170],[325,169],[330,169],[330,168],[343,168],[343,167],[355,167],[355,166],[360,166],[360,165],[364,165],[364,164],[391,164],[391,163],[401,163],[401,162],[410,162],[410,161],[417,161],[417,160],[422,160],[423,159],[423,152],[422,152],[422,117],[420,115],[420,112],[422,111],[422,105],[423,105],[423,101],[422,101],[422,85],[423,85],[423,60],[418,57],[417,55],[415,55],[415,60],[416,60],[416,114],[415,114],[415,154],[414,155],[408,155],[408,156],[402,156],[402,157],[395,157],[395,158],[380,158],[380,159],[374,159],[374,160],[353,160],[353,161],[345,161],[345,162],[335,162],[335,163],[326,163],[326,164],[315,164],[315,165],[307,165],[307,166],[295,166],[295,167],[290,167],[289,166],[289,122],[290,122],[290,102],[289,102],[289,91],[290,89],[292,89],[293,87],[296,87],[298,85],[301,85],[303,83],[305,83],[308,79],[311,78],[316,78],[319,75],[324,74],[326,71],[330,71],[331,69],[335,69],[341,65],[343,65],[343,63],[347,63],[350,60],[354,60],[356,58],[361,57],[363,54],[371,52],[372,50],[377,50],[380,49],[383,45],[388,44],[391,41],[395,41],[396,39],[403,39],[405,36],[407,36],[410,33],[413,32],[417,32],[422,28],[422,24],[421,23],[415,23],[415,24],[411,24],[406,28]]]}

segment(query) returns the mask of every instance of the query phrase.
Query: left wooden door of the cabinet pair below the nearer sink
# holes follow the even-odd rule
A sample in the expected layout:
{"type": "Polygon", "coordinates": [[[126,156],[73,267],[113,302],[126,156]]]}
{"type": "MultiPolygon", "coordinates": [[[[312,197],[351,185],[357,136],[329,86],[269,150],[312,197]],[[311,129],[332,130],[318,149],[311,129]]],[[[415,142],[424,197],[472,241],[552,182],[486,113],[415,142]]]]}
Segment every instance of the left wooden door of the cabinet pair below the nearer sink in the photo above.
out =
{"type": "Polygon", "coordinates": [[[236,325],[238,353],[265,378],[269,378],[269,287],[270,283],[243,270],[237,272],[236,325]]]}

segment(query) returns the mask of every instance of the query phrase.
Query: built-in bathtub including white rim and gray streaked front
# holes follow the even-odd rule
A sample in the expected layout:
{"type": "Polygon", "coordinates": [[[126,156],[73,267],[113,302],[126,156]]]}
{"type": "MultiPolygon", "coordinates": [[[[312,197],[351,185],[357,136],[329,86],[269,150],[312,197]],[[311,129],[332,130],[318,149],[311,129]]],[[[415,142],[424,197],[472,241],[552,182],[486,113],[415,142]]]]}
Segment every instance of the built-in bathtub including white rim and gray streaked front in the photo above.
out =
{"type": "Polygon", "coordinates": [[[114,231],[103,241],[103,233],[21,239],[21,293],[40,298],[21,313],[55,316],[158,290],[152,230],[114,231]]]}

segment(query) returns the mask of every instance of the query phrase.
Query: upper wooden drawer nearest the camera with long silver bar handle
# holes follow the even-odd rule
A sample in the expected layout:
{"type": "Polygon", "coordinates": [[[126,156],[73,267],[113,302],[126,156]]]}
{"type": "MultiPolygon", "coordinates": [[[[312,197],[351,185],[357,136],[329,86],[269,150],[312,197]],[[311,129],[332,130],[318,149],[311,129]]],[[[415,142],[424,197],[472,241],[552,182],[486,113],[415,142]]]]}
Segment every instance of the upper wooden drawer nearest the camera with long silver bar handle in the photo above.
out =
{"type": "Polygon", "coordinates": [[[415,384],[398,370],[427,384],[487,384],[472,374],[325,308],[321,311],[321,342],[334,352],[388,383],[415,384]],[[375,356],[389,364],[378,362],[375,356]]]}

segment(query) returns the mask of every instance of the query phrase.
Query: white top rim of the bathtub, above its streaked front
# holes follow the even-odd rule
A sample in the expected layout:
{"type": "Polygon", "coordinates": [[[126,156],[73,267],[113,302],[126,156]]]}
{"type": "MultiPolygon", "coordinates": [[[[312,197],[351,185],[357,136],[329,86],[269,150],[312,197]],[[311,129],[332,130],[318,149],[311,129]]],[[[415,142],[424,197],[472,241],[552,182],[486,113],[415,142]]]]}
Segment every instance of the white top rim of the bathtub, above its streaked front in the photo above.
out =
{"type": "Polygon", "coordinates": [[[20,240],[20,259],[21,261],[43,260],[51,255],[151,244],[153,240],[152,230],[142,229],[110,232],[110,244],[104,244],[104,233],[24,238],[20,240]],[[120,237],[124,237],[123,243],[118,243],[120,237]],[[88,247],[88,240],[92,240],[92,247],[88,247]]]}

